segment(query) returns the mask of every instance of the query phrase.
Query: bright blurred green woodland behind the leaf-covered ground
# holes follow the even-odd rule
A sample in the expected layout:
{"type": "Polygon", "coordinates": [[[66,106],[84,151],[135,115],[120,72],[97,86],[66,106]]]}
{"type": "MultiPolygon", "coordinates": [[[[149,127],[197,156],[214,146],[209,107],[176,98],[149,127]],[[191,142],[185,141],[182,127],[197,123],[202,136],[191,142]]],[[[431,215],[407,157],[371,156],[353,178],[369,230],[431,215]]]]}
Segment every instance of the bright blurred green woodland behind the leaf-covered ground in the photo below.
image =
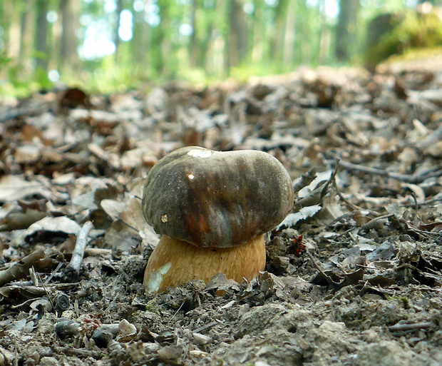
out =
{"type": "MultiPolygon", "coordinates": [[[[369,31],[376,16],[431,9],[440,18],[438,6],[438,0],[0,0],[0,91],[20,91],[29,81],[34,88],[63,81],[111,91],[173,78],[287,73],[300,65],[364,66],[369,38],[382,36],[382,29],[369,31]]],[[[440,46],[437,37],[433,43],[440,46]]]]}

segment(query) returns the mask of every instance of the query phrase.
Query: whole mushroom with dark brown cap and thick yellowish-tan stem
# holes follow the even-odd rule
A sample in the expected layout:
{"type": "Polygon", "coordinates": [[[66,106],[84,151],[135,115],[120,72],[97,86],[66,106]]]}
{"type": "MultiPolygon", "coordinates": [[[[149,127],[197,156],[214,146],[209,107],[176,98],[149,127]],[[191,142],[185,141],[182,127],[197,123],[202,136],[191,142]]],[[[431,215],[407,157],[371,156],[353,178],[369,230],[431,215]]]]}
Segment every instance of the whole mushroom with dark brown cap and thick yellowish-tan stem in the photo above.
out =
{"type": "Polygon", "coordinates": [[[144,273],[148,293],[217,273],[241,282],[265,266],[264,233],[292,209],[294,192],[279,161],[262,151],[169,153],[148,173],[143,214],[161,234],[144,273]]]}

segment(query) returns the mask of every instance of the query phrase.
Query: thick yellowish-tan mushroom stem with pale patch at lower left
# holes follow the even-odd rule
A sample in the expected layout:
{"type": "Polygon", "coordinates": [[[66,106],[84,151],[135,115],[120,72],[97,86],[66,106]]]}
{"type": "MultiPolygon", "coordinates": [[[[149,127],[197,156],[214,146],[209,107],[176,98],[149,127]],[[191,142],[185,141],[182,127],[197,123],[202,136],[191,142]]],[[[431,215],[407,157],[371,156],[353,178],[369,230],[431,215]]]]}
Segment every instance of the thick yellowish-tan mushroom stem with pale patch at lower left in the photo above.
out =
{"type": "Polygon", "coordinates": [[[160,293],[195,279],[207,284],[217,273],[240,283],[243,278],[252,280],[264,267],[264,235],[232,248],[197,247],[163,235],[150,255],[143,284],[148,293],[160,293]]]}

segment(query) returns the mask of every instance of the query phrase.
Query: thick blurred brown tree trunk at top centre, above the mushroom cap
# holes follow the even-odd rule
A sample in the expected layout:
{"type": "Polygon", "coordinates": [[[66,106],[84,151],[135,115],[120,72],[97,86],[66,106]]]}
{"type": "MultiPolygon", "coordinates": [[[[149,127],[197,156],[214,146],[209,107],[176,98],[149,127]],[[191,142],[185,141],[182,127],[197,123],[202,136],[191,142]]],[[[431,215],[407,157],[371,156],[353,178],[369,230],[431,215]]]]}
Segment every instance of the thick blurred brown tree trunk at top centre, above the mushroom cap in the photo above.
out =
{"type": "Polygon", "coordinates": [[[240,0],[230,0],[227,69],[239,65],[247,55],[247,25],[240,0]]]}

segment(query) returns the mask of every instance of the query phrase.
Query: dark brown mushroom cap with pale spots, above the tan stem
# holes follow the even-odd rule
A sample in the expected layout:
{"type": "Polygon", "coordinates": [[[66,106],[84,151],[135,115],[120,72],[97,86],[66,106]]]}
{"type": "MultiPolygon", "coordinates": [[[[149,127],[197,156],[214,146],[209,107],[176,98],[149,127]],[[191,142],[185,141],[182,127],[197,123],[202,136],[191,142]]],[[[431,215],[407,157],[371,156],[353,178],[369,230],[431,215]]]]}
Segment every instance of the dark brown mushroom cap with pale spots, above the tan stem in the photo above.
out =
{"type": "Polygon", "coordinates": [[[289,174],[268,153],[186,147],[150,170],[142,207],[159,234],[227,248],[274,228],[293,198],[289,174]]]}

